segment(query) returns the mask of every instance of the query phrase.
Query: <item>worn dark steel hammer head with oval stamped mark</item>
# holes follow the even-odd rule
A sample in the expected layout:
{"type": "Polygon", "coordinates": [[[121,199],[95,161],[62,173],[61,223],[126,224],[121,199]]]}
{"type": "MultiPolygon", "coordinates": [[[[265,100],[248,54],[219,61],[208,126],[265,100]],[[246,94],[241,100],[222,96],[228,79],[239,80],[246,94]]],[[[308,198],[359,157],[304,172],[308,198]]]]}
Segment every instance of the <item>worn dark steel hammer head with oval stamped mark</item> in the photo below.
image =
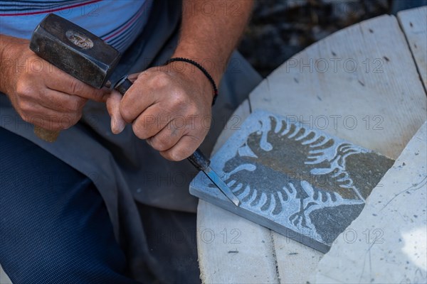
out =
{"type": "Polygon", "coordinates": [[[60,70],[102,88],[110,77],[120,53],[84,28],[53,13],[38,24],[30,49],[60,70]]]}

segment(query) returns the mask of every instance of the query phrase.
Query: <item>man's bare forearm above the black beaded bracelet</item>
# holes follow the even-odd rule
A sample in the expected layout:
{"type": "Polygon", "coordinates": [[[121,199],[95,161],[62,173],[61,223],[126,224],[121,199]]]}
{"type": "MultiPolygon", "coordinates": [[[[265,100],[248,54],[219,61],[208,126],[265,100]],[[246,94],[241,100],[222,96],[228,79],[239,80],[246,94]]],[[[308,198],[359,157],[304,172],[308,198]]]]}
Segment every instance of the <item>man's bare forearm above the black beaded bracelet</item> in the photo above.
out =
{"type": "Polygon", "coordinates": [[[174,57],[198,60],[216,84],[246,26],[253,0],[184,0],[174,57]]]}

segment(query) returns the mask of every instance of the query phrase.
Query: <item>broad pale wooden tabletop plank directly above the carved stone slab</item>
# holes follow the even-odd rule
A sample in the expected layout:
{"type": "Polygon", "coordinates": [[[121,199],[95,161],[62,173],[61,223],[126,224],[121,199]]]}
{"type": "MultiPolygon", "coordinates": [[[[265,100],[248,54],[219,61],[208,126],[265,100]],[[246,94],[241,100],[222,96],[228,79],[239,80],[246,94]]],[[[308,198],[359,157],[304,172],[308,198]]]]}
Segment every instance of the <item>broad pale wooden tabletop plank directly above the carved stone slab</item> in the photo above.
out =
{"type": "Polygon", "coordinates": [[[250,98],[254,110],[306,121],[394,159],[426,120],[426,93],[394,16],[315,43],[275,70],[250,98]]]}

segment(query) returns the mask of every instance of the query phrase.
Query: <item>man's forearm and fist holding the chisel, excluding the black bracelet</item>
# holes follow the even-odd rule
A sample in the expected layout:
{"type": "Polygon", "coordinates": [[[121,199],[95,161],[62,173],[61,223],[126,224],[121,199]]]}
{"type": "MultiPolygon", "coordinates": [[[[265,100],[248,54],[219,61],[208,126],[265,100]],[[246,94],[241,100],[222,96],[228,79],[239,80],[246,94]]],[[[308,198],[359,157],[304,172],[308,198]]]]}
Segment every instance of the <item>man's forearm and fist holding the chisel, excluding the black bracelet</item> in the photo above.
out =
{"type": "MultiPolygon", "coordinates": [[[[199,62],[218,86],[252,6],[252,0],[184,0],[179,43],[172,58],[199,62]]],[[[213,92],[205,75],[188,63],[154,67],[137,76],[122,102],[118,92],[110,96],[112,131],[119,133],[125,122],[132,123],[135,134],[147,139],[164,158],[183,160],[209,131],[213,92]]]]}

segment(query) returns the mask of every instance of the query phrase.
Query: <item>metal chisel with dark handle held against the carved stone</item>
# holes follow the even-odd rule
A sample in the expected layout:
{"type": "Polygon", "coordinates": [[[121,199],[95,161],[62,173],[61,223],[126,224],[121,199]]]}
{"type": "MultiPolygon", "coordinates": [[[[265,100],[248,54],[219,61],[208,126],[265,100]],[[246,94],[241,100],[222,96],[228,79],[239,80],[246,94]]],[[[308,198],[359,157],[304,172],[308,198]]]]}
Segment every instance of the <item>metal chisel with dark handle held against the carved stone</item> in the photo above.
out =
{"type": "MultiPolygon", "coordinates": [[[[125,94],[125,92],[127,91],[127,89],[130,88],[130,86],[132,86],[132,82],[130,82],[130,80],[127,79],[127,76],[125,76],[122,77],[122,79],[115,84],[114,88],[118,92],[120,92],[120,94],[125,94]]],[[[226,197],[228,197],[228,199],[231,200],[233,204],[235,204],[236,206],[240,205],[240,200],[238,200],[236,195],[233,194],[233,192],[226,185],[226,183],[221,180],[219,175],[211,169],[211,160],[206,158],[206,156],[200,151],[200,149],[197,149],[191,156],[189,156],[188,160],[198,170],[203,171],[205,175],[207,175],[209,180],[214,182],[214,185],[216,185],[216,187],[218,187],[218,189],[221,190],[221,192],[223,192],[223,194],[226,195],[226,197]]]]}

